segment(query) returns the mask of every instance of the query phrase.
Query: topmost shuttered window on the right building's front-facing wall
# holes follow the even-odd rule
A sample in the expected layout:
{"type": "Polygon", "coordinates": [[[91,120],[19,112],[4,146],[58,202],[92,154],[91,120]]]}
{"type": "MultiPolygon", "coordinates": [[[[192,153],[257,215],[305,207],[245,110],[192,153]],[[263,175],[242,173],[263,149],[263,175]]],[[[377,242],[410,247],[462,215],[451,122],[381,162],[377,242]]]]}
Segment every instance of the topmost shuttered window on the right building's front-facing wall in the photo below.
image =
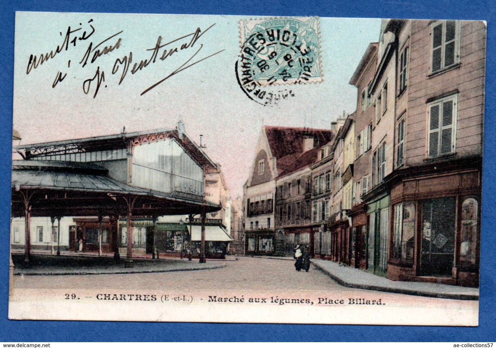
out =
{"type": "Polygon", "coordinates": [[[438,21],[431,28],[431,72],[434,73],[460,62],[460,23],[455,20],[438,21]]]}

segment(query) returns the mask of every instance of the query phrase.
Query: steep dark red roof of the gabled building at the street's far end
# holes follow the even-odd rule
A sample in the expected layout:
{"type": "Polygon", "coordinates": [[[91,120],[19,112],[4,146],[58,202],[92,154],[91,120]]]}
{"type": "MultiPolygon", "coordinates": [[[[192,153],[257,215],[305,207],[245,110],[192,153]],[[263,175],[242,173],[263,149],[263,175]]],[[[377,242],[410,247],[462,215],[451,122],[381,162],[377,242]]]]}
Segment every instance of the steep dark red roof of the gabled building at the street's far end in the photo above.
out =
{"type": "Polygon", "coordinates": [[[265,134],[272,155],[278,160],[290,154],[300,155],[303,152],[305,135],[313,136],[315,146],[321,146],[334,138],[330,130],[313,128],[265,126],[265,134]]]}

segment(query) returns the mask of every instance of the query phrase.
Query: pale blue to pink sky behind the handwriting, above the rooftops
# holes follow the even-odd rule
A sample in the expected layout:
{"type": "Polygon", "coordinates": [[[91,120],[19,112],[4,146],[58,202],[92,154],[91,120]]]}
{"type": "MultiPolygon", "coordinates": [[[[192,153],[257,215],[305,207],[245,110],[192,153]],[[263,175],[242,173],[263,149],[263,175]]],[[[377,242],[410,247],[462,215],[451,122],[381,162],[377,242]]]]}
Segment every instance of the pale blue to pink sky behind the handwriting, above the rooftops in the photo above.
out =
{"type": "Polygon", "coordinates": [[[283,100],[278,107],[264,107],[248,99],[234,72],[240,54],[239,21],[246,18],[249,16],[18,12],[14,128],[27,144],[117,134],[123,126],[129,132],[174,127],[183,120],[192,139],[199,141],[203,135],[208,154],[221,163],[233,195],[241,194],[262,120],[271,126],[329,128],[343,110],[355,110],[357,91],[348,82],[369,43],[378,40],[380,28],[379,19],[320,18],[323,81],[281,86],[292,89],[295,97],[283,100]],[[77,40],[75,47],[26,74],[30,54],[39,56],[55,50],[68,26],[83,28],[73,35],[89,32],[90,19],[95,32],[88,40],[77,40]],[[112,74],[116,59],[129,52],[133,63],[149,58],[151,52],[146,49],[155,46],[158,36],[166,43],[214,23],[195,44],[203,45],[197,58],[224,51],[170,77],[143,96],[143,90],[179,68],[197,48],[179,51],[134,75],[131,66],[121,85],[123,67],[112,74]],[[89,42],[94,47],[120,31],[122,34],[107,42],[115,44],[122,38],[118,49],[81,67],[79,61],[89,42]],[[92,78],[97,67],[104,71],[105,81],[93,98],[93,86],[89,94],[83,93],[83,80],[92,78]],[[67,75],[52,88],[59,71],[67,75]]]}

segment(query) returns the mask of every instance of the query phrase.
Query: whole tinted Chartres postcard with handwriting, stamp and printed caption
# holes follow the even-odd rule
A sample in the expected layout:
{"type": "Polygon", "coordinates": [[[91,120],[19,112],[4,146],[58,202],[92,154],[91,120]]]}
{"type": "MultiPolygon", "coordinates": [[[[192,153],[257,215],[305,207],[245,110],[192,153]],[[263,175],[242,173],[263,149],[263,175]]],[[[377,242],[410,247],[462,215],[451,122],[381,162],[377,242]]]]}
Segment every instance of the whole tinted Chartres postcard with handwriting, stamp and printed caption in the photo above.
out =
{"type": "Polygon", "coordinates": [[[17,12],[9,318],[477,326],[486,32],[17,12]]]}

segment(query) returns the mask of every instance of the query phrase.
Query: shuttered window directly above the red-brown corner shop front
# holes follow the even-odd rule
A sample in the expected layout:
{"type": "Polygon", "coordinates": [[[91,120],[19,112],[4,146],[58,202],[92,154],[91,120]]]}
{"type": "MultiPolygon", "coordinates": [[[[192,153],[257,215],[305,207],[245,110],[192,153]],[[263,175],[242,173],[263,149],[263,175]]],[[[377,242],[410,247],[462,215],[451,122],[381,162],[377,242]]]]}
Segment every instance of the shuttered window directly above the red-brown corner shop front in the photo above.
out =
{"type": "Polygon", "coordinates": [[[428,156],[431,158],[455,152],[457,96],[429,104],[428,156]]]}

